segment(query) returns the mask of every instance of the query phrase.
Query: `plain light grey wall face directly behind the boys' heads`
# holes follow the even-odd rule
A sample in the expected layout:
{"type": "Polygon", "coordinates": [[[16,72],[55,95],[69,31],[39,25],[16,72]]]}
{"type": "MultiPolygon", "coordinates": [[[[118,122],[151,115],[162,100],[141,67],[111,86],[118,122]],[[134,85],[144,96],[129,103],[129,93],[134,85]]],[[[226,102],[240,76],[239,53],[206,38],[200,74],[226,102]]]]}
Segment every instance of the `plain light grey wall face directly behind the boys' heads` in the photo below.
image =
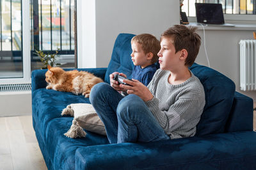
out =
{"type": "Polygon", "coordinates": [[[179,1],[170,0],[97,0],[97,67],[106,67],[119,33],[150,33],[157,38],[179,24],[179,1]]]}

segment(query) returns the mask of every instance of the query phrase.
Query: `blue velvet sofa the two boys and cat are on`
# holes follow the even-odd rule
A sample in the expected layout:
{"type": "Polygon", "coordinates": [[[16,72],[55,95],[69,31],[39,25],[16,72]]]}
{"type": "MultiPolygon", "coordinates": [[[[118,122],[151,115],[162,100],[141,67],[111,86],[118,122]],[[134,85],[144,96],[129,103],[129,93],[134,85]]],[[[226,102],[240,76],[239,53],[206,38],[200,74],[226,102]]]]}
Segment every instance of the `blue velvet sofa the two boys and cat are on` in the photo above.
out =
{"type": "MultiPolygon", "coordinates": [[[[113,71],[131,74],[132,36],[118,35],[108,68],[78,70],[108,83],[113,71]]],[[[61,117],[63,108],[90,101],[45,89],[45,70],[33,71],[33,127],[48,169],[256,169],[252,99],[236,92],[233,81],[214,69],[198,64],[190,69],[204,85],[206,101],[196,136],[120,144],[89,131],[86,138],[64,136],[73,118],[61,117]]]]}

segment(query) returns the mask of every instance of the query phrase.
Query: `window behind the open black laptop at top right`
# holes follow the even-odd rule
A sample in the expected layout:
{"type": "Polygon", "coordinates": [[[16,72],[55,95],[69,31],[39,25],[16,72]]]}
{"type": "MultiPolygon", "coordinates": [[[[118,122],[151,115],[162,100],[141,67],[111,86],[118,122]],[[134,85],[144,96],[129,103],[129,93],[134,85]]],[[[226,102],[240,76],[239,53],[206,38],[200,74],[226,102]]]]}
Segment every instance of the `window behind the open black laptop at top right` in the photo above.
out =
{"type": "Polygon", "coordinates": [[[195,3],[221,3],[224,14],[256,14],[256,0],[184,0],[182,11],[188,17],[196,16],[195,3]]]}

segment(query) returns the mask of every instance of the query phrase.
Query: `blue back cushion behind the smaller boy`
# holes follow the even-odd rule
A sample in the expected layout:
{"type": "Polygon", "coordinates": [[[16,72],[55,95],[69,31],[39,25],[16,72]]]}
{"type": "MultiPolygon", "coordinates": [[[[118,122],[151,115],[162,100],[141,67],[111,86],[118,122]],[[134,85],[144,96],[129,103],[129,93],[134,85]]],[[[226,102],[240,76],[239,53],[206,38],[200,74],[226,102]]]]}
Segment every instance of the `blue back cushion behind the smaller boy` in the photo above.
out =
{"type": "Polygon", "coordinates": [[[109,83],[109,74],[118,71],[129,77],[134,67],[131,60],[131,39],[134,34],[119,34],[116,38],[111,60],[105,74],[105,82],[109,83]]]}

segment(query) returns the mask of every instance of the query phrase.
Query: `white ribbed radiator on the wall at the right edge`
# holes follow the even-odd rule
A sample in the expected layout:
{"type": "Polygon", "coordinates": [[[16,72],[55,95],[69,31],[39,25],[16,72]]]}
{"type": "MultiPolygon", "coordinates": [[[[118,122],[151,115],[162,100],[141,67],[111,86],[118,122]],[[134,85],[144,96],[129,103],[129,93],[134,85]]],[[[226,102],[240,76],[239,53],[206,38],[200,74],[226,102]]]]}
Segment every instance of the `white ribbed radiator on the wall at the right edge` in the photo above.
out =
{"type": "Polygon", "coordinates": [[[240,88],[256,90],[256,40],[241,40],[240,45],[240,88]]]}

